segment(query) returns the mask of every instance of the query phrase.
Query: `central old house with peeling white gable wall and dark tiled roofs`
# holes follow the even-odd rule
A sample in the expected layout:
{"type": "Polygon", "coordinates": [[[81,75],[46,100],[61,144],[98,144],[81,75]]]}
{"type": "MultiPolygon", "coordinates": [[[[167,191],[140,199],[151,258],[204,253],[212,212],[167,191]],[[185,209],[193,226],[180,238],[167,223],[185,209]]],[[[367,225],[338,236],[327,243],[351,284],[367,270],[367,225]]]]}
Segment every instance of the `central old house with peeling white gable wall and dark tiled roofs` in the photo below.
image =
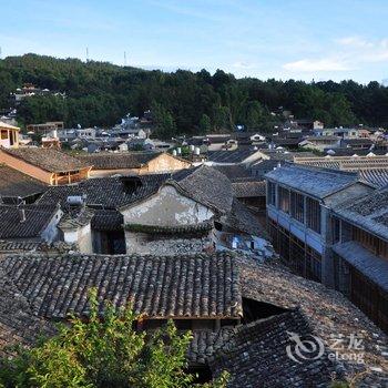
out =
{"type": "MultiPolygon", "coordinates": [[[[51,187],[38,201],[60,203],[64,212],[69,202],[78,203],[79,212],[86,206],[94,213],[85,222],[88,226],[82,225],[83,231],[91,233],[89,253],[270,249],[257,218],[234,197],[232,183],[208,166],[173,174],[96,177],[51,187]]],[[[69,234],[68,227],[68,236],[80,235],[78,221],[69,225],[73,233],[69,234]]],[[[64,242],[73,243],[65,237],[64,242]]]]}

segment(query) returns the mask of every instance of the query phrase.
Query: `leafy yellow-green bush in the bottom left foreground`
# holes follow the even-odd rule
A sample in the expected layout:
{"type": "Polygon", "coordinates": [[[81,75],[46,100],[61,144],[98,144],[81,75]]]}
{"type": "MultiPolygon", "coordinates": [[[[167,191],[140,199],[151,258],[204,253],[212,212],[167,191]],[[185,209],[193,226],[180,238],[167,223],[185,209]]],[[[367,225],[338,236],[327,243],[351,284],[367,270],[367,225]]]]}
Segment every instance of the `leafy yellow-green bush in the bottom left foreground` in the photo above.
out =
{"type": "MultiPolygon", "coordinates": [[[[183,388],[192,387],[185,353],[191,334],[178,334],[172,321],[152,336],[133,329],[139,319],[130,308],[108,305],[100,319],[95,292],[90,319],[72,319],[59,334],[0,367],[2,388],[183,388]]],[[[225,387],[226,376],[202,388],[225,387]]],[[[198,385],[194,385],[200,387],[198,385]]]]}

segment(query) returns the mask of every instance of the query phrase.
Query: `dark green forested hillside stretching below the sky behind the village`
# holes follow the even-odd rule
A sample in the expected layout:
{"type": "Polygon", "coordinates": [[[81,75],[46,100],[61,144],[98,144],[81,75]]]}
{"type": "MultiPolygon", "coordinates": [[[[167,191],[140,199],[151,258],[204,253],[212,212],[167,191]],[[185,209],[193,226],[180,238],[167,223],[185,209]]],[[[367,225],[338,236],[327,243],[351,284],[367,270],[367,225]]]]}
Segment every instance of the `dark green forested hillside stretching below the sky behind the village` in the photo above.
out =
{"type": "Polygon", "coordinates": [[[25,99],[19,108],[21,123],[111,125],[127,112],[140,115],[151,108],[166,136],[225,131],[234,124],[268,131],[274,123],[270,112],[283,106],[326,126],[388,126],[388,88],[377,82],[237,80],[222,70],[213,75],[205,70],[164,73],[27,54],[0,60],[0,108],[8,108],[10,92],[25,82],[65,92],[67,98],[25,99]]]}

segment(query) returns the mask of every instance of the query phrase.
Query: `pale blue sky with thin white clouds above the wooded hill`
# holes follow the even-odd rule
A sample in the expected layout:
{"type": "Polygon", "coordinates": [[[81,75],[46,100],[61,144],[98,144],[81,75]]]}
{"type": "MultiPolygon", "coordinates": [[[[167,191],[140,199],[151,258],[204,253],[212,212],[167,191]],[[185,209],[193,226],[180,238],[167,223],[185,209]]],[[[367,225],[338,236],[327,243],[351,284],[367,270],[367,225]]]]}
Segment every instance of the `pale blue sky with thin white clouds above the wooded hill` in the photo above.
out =
{"type": "Polygon", "coordinates": [[[388,0],[0,0],[28,52],[237,78],[388,84],[388,0]],[[124,52],[126,62],[124,62],[124,52]]]}

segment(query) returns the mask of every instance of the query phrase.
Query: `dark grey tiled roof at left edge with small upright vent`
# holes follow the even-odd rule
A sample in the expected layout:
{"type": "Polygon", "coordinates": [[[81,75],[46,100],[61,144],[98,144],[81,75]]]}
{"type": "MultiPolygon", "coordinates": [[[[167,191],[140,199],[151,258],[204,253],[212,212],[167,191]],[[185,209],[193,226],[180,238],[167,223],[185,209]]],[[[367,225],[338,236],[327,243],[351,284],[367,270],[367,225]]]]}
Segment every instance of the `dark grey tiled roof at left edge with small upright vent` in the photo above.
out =
{"type": "Polygon", "coordinates": [[[51,205],[0,205],[0,239],[38,238],[54,217],[58,206],[51,205]],[[25,221],[21,222],[21,211],[25,221]]]}

